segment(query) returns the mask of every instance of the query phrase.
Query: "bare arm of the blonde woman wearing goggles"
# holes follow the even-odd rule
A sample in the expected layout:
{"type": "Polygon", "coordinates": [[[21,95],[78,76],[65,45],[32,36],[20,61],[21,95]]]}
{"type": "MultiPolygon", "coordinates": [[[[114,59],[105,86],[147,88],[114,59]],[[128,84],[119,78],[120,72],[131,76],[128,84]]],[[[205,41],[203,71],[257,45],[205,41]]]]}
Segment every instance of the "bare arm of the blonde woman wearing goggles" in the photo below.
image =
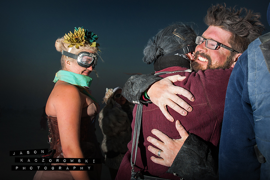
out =
{"type": "MultiPolygon", "coordinates": [[[[61,84],[54,95],[61,146],[64,158],[84,158],[80,147],[80,119],[85,103],[79,90],[70,84],[61,84]]],[[[67,164],[85,165],[85,164],[67,164]]],[[[87,171],[70,171],[75,180],[89,179],[87,171]]]]}

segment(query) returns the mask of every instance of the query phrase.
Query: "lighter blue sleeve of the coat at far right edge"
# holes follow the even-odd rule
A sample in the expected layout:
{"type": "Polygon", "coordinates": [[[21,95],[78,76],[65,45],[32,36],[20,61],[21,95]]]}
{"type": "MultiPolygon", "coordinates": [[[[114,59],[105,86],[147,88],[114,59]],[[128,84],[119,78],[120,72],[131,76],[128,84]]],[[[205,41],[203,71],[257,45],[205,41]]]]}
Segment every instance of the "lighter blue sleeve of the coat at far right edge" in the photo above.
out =
{"type": "MultiPolygon", "coordinates": [[[[256,143],[260,152],[266,158],[266,163],[261,165],[260,179],[270,179],[270,73],[265,63],[265,58],[270,57],[264,57],[260,44],[262,43],[258,38],[247,49],[247,85],[253,111],[256,143]]],[[[270,44],[270,41],[264,44],[270,44]]],[[[270,51],[269,46],[267,50],[270,51]]]]}

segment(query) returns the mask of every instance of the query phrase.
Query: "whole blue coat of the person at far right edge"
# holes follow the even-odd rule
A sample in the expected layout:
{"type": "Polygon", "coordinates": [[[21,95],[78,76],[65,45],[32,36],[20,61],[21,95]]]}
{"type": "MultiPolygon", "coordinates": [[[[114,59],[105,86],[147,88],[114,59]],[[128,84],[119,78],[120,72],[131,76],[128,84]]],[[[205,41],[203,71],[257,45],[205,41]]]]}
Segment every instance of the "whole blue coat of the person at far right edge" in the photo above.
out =
{"type": "Polygon", "coordinates": [[[220,138],[220,179],[269,179],[269,161],[261,166],[254,150],[258,144],[269,159],[270,74],[260,44],[256,39],[248,46],[229,79],[220,138]]]}

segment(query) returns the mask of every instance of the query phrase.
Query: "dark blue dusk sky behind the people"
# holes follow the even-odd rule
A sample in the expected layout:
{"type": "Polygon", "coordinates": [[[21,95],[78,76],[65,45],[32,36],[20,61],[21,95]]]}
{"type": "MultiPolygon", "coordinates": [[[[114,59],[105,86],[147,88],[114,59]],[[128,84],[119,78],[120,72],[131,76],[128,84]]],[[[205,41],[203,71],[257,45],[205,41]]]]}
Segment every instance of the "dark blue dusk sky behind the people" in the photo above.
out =
{"type": "MultiPolygon", "coordinates": [[[[1,5],[1,108],[41,108],[52,90],[61,54],[55,40],[74,27],[98,35],[101,58],[91,85],[100,102],[106,88],[123,86],[125,73],[150,73],[153,65],[142,62],[149,38],[173,22],[196,23],[199,35],[211,4],[247,7],[262,15],[269,31],[269,1],[5,1],[1,5]]],[[[264,32],[264,33],[265,33],[264,32]]],[[[100,60],[100,59],[99,59],[100,60]]]]}

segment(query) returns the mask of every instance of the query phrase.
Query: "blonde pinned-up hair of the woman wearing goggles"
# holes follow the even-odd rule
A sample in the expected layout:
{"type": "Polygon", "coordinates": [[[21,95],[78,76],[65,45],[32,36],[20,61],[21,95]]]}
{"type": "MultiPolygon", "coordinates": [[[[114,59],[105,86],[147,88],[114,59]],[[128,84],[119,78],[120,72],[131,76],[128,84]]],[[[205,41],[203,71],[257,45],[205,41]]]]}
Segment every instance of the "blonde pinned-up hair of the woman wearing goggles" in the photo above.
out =
{"type": "MultiPolygon", "coordinates": [[[[69,47],[67,47],[69,44],[64,43],[63,41],[64,41],[64,37],[58,38],[55,41],[55,48],[58,52],[61,52],[61,53],[62,53],[62,50],[68,51],[68,49],[69,49],[69,47]]],[[[79,52],[86,51],[86,50],[90,50],[92,53],[98,52],[98,49],[96,47],[91,47],[87,42],[85,42],[84,46],[79,46],[79,49],[77,49],[77,48],[75,48],[75,46],[73,46],[70,53],[79,54],[79,52]]],[[[75,59],[73,59],[73,58],[62,55],[62,57],[61,57],[62,70],[65,70],[65,60],[71,61],[71,62],[75,61],[75,59]]]]}

